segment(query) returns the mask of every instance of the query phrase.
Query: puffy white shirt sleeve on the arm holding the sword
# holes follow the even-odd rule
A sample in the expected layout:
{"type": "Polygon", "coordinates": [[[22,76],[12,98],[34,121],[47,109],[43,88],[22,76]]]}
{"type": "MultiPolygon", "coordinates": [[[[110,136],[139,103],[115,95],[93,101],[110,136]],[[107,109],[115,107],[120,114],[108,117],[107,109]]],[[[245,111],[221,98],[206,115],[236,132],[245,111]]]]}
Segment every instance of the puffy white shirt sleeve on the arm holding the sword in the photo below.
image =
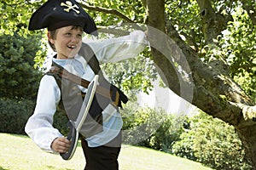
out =
{"type": "Polygon", "coordinates": [[[33,115],[26,122],[25,132],[44,151],[55,153],[50,145],[61,137],[61,133],[52,126],[56,106],[61,99],[61,92],[55,78],[45,75],[38,88],[37,105],[33,115]]]}

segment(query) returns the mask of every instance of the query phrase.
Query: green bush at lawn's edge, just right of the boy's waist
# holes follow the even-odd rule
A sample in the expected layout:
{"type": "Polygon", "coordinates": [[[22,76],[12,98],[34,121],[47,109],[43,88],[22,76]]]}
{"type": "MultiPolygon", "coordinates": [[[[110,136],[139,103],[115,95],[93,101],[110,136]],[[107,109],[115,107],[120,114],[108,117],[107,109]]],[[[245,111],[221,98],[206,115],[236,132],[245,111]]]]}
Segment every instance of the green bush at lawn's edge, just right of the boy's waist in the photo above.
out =
{"type": "Polygon", "coordinates": [[[121,111],[124,120],[125,144],[137,144],[171,152],[174,141],[183,133],[183,117],[168,115],[165,111],[136,105],[126,106],[121,111]],[[137,108],[137,111],[133,111],[137,108]]]}

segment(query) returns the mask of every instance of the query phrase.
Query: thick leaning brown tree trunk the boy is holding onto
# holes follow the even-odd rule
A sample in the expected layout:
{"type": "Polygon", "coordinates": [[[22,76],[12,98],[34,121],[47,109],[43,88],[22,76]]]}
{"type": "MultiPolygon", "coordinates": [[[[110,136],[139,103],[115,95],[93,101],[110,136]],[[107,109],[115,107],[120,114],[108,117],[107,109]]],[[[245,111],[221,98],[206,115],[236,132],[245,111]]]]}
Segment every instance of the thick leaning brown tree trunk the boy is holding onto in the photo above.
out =
{"type": "MultiPolygon", "coordinates": [[[[206,65],[183,42],[172,23],[165,20],[164,0],[148,0],[146,3],[148,38],[160,77],[183,99],[208,115],[233,125],[256,169],[256,133],[253,133],[256,132],[255,103],[228,76],[223,60],[214,59],[206,65]]],[[[204,11],[202,25],[206,41],[212,43],[227,20],[219,20],[221,17],[214,13],[209,1],[198,1],[198,4],[201,12],[204,11]]]]}

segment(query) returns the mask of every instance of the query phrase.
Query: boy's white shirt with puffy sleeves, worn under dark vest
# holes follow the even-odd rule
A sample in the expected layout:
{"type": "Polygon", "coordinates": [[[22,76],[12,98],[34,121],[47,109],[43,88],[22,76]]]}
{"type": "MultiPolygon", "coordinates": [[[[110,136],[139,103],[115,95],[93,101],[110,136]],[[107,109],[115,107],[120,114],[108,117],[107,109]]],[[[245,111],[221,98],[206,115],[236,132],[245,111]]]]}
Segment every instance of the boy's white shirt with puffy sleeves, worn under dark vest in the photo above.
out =
{"type": "MultiPolygon", "coordinates": [[[[96,58],[102,63],[115,63],[120,60],[136,57],[148,45],[143,31],[132,31],[129,36],[107,39],[103,41],[86,42],[96,54],[96,58]]],[[[90,65],[78,54],[74,59],[54,59],[68,71],[74,69],[76,74],[91,81],[95,76],[90,65]],[[67,64],[69,65],[67,67],[67,64]]],[[[85,88],[79,86],[82,91],[85,88]]],[[[51,149],[52,141],[63,136],[58,129],[53,127],[53,117],[56,107],[61,99],[61,90],[58,88],[55,78],[44,75],[38,88],[37,105],[33,115],[26,122],[25,131],[29,137],[42,149],[55,153],[51,149]]],[[[108,105],[103,111],[103,131],[87,138],[90,147],[107,144],[120,132],[123,125],[122,118],[113,105],[108,105]]]]}

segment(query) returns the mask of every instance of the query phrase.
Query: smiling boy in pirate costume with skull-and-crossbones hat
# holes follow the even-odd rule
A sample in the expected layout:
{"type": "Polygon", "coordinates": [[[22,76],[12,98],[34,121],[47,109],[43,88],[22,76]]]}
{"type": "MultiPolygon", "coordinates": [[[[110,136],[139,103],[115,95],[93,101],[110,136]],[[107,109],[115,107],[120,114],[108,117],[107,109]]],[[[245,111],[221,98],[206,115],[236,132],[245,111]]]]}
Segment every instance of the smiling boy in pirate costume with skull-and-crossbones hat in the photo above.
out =
{"type": "MultiPolygon", "coordinates": [[[[96,73],[84,56],[79,55],[83,31],[97,35],[95,22],[90,15],[75,0],[49,0],[32,14],[28,27],[29,30],[43,28],[48,28],[49,45],[56,52],[52,60],[53,65],[59,65],[76,76],[91,81],[96,73]]],[[[136,57],[145,48],[147,44],[145,42],[144,32],[134,31],[126,37],[102,42],[88,42],[86,49],[95,54],[99,63],[118,62],[122,59],[136,57]]],[[[80,107],[77,107],[77,104],[81,96],[77,97],[72,93],[73,91],[80,94],[86,93],[84,87],[74,84],[72,86],[62,84],[60,87],[60,82],[52,75],[46,74],[42,77],[35,111],[25,127],[26,133],[32,140],[42,150],[51,153],[65,153],[70,148],[70,141],[52,126],[57,106],[63,102],[67,116],[73,119],[78,114],[77,108],[80,107]]],[[[103,108],[98,108],[101,107],[100,105],[92,105],[92,107],[94,108],[91,112],[101,112],[97,113],[97,116],[101,118],[97,127],[101,128],[99,131],[97,131],[98,128],[89,130],[89,125],[85,123],[84,129],[83,127],[81,129],[85,132],[80,132],[83,136],[81,143],[86,160],[84,169],[119,169],[118,156],[123,122],[118,107],[112,104],[103,108]]]]}

